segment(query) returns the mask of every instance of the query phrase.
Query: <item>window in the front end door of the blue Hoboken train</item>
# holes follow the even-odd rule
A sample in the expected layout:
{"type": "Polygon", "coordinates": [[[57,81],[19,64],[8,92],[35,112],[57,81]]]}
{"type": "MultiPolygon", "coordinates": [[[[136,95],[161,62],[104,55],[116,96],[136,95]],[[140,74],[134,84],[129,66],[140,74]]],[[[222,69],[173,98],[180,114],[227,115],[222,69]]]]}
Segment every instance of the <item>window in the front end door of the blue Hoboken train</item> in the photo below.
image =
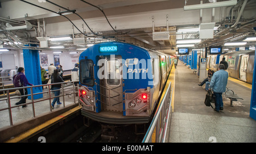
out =
{"type": "Polygon", "coordinates": [[[108,60],[107,62],[107,74],[108,74],[108,84],[109,85],[119,85],[120,84],[120,72],[119,72],[119,61],[118,60],[108,60]]]}

